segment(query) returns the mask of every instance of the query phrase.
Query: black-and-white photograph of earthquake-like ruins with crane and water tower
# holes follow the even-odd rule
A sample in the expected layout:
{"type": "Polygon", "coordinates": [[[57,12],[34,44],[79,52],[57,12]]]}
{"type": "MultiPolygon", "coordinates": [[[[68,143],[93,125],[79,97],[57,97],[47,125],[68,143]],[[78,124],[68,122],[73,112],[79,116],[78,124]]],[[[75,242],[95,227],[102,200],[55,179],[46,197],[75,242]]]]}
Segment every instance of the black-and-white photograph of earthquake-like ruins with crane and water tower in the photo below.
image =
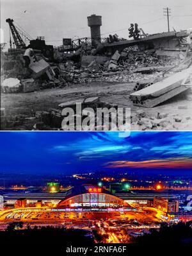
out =
{"type": "Polygon", "coordinates": [[[190,10],[1,0],[1,130],[190,130],[190,10]]]}

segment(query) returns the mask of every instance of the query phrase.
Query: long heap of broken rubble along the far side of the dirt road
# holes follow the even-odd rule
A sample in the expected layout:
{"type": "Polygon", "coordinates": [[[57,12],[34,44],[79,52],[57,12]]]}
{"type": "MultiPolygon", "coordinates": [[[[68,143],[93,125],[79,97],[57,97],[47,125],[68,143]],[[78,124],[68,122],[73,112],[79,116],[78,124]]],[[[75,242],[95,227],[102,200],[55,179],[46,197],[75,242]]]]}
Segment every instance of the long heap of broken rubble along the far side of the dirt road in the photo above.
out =
{"type": "MultiPolygon", "coordinates": [[[[4,93],[33,92],[36,90],[65,87],[70,83],[91,83],[92,81],[127,82],[161,76],[167,67],[177,60],[158,56],[154,49],[144,51],[138,46],[127,47],[115,53],[94,55],[95,48],[81,44],[75,53],[54,51],[54,62],[48,63],[40,54],[28,69],[24,68],[22,54],[5,56],[1,80],[17,78],[17,89],[2,87],[4,93]],[[158,67],[158,68],[157,68],[158,67]],[[35,81],[33,81],[33,80],[35,81]],[[22,81],[24,80],[24,81],[22,81]],[[31,89],[29,89],[31,87],[31,89]]],[[[1,83],[2,84],[2,83],[1,83]]],[[[10,86],[11,87],[11,86],[10,86]]]]}

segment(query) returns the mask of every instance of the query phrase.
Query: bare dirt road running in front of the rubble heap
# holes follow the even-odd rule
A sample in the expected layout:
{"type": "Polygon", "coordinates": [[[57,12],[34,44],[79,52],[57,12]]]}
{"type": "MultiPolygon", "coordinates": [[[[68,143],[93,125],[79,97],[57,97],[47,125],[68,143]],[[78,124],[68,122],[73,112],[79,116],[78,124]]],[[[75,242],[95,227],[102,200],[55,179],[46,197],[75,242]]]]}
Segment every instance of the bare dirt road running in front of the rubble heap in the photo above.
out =
{"type": "Polygon", "coordinates": [[[33,117],[36,111],[58,108],[60,103],[67,101],[99,96],[101,101],[115,103],[118,107],[131,108],[132,116],[137,116],[138,110],[139,112],[142,110],[147,118],[152,117],[154,119],[154,116],[159,112],[168,114],[166,121],[170,121],[174,116],[181,119],[179,122],[178,120],[177,122],[173,121],[173,126],[167,126],[167,129],[166,125],[148,128],[148,126],[132,121],[131,130],[192,130],[192,94],[189,92],[189,95],[180,94],[154,108],[135,107],[129,99],[134,85],[135,83],[93,81],[90,84],[70,84],[63,88],[45,89],[37,92],[1,94],[1,107],[5,108],[8,120],[17,115],[26,115],[27,117],[24,123],[9,123],[9,126],[1,129],[32,130],[36,123],[33,117]]]}

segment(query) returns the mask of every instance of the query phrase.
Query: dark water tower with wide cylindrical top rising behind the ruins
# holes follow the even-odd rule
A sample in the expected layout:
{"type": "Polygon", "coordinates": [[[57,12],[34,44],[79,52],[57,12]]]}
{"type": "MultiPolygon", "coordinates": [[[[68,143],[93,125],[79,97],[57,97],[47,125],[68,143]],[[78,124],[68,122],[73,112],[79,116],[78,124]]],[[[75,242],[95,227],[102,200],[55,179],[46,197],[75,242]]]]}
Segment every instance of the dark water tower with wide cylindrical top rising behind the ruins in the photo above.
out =
{"type": "Polygon", "coordinates": [[[90,15],[87,17],[88,26],[91,28],[92,46],[100,42],[100,26],[102,26],[102,17],[99,15],[90,15]]]}

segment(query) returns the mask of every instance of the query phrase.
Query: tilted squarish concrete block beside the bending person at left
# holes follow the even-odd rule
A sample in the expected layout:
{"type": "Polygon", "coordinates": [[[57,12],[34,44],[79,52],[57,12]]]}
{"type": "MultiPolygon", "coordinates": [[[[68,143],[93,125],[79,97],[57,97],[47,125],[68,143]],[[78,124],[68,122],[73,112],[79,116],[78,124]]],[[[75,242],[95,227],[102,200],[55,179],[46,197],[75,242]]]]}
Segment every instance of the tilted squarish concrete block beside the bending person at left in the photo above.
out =
{"type": "Polygon", "coordinates": [[[36,79],[42,76],[42,74],[46,73],[47,69],[49,68],[49,63],[45,62],[45,60],[39,60],[38,62],[32,62],[29,65],[29,69],[33,71],[31,75],[32,78],[36,79]]]}

